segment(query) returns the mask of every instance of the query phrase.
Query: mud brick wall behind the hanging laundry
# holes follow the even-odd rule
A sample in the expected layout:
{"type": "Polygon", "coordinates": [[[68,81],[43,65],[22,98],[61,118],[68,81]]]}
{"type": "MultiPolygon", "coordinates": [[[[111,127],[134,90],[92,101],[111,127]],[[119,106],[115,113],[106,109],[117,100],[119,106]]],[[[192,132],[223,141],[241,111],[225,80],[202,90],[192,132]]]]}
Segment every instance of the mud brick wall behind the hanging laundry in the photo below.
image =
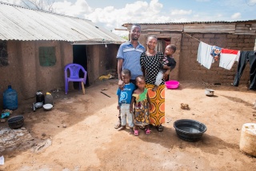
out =
{"type": "MultiPolygon", "coordinates": [[[[201,42],[230,50],[254,50],[255,36],[235,34],[190,34],[201,42]]],[[[197,62],[199,41],[182,34],[182,46],[179,59],[179,80],[202,81],[209,83],[233,83],[238,62],[231,70],[219,67],[214,62],[210,70],[197,62]]],[[[240,84],[247,84],[250,76],[250,64],[247,62],[240,84]]]]}

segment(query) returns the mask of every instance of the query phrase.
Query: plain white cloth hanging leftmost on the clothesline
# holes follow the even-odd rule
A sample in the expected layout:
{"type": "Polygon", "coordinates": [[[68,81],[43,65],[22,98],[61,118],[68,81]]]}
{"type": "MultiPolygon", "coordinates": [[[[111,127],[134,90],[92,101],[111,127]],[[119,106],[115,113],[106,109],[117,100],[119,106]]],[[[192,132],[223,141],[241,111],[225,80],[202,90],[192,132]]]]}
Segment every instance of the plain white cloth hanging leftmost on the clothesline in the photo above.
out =
{"type": "Polygon", "coordinates": [[[208,70],[210,70],[210,66],[214,63],[214,58],[210,55],[211,52],[210,45],[200,42],[198,46],[198,58],[197,61],[201,64],[201,66],[205,66],[208,70]]]}

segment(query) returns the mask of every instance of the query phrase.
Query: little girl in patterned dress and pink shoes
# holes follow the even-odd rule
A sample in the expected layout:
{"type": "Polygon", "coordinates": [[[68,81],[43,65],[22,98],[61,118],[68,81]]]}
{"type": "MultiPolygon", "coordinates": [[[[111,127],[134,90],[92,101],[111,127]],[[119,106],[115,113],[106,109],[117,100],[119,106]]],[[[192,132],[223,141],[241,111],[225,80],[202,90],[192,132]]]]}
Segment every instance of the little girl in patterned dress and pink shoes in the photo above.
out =
{"type": "Polygon", "coordinates": [[[134,112],[134,135],[138,136],[138,127],[145,127],[145,133],[150,134],[150,97],[145,87],[145,78],[140,75],[136,78],[138,89],[134,90],[130,103],[130,113],[134,112]]]}

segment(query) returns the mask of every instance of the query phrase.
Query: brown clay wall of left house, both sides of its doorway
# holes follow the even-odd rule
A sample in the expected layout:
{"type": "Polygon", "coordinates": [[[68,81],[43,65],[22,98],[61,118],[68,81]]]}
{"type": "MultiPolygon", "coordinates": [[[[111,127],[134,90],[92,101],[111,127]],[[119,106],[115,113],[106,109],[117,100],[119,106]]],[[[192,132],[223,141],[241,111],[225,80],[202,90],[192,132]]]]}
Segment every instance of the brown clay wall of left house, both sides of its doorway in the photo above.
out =
{"type": "MultiPolygon", "coordinates": [[[[106,70],[115,70],[116,54],[119,45],[87,46],[87,66],[90,84],[93,84],[106,70]]],[[[35,97],[40,90],[42,93],[54,89],[63,89],[64,68],[73,62],[73,46],[69,42],[38,41],[22,42],[8,41],[8,66],[0,67],[0,94],[11,85],[18,92],[18,103],[24,99],[35,97]],[[56,63],[54,66],[40,66],[38,49],[40,46],[54,46],[56,63]]],[[[86,58],[85,58],[86,59],[86,58]]],[[[69,89],[72,89],[70,82],[69,89]]],[[[0,96],[0,109],[2,109],[0,96]]]]}

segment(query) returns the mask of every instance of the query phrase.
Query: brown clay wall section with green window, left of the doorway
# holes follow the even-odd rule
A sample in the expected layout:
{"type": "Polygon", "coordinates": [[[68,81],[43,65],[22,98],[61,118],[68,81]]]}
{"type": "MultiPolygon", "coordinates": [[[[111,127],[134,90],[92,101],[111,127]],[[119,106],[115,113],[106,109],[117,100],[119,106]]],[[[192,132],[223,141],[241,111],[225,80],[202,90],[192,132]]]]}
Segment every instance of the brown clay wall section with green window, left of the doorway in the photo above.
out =
{"type": "MultiPolygon", "coordinates": [[[[8,66],[0,67],[0,94],[11,85],[18,92],[18,101],[32,98],[36,91],[43,93],[52,89],[63,89],[64,66],[72,62],[73,51],[67,42],[22,42],[8,41],[8,66]],[[55,46],[56,64],[40,66],[38,48],[40,46],[55,46]]],[[[2,97],[0,97],[2,104],[2,97]]],[[[0,105],[0,108],[2,105],[0,105]]]]}

